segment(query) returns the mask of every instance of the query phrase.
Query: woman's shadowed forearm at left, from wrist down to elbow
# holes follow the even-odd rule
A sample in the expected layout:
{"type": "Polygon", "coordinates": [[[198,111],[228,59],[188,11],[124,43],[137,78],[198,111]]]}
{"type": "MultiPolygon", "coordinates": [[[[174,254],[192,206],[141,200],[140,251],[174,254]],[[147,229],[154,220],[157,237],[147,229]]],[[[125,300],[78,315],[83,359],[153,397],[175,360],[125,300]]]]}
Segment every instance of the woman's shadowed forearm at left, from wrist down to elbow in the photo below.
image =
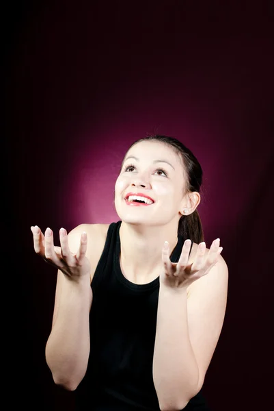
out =
{"type": "Polygon", "coordinates": [[[66,279],[62,286],[57,316],[46,343],[46,362],[56,384],[77,388],[90,355],[90,279],[76,283],[66,279]]]}

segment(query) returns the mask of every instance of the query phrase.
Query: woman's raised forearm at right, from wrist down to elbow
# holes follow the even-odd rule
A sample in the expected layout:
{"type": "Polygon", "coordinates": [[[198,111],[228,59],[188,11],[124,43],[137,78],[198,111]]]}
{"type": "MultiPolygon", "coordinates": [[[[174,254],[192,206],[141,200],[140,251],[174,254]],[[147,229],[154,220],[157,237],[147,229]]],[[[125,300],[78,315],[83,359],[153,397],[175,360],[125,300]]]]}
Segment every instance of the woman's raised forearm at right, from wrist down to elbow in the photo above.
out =
{"type": "Polygon", "coordinates": [[[198,378],[189,339],[187,290],[160,285],[153,380],[161,409],[180,410],[195,395],[198,378]]]}

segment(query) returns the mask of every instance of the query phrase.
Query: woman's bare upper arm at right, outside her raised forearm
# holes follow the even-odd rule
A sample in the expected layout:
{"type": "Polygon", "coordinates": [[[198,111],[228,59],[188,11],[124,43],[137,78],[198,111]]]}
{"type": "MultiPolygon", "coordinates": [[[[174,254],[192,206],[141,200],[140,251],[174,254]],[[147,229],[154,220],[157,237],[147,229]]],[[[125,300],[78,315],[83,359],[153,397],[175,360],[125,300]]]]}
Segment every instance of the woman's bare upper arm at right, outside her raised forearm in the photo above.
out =
{"type": "Polygon", "coordinates": [[[228,295],[228,266],[222,256],[210,271],[191,284],[187,299],[189,338],[199,369],[197,392],[217,346],[228,295]]]}

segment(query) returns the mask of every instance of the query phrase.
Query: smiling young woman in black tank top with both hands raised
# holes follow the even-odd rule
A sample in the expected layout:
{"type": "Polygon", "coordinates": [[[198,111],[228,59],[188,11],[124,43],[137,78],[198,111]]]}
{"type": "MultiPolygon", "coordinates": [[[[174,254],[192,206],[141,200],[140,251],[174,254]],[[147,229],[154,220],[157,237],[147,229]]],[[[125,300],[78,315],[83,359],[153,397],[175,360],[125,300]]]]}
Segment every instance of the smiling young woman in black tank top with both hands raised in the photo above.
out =
{"type": "Polygon", "coordinates": [[[228,266],[206,248],[202,169],[175,138],[129,147],[115,183],[120,221],[81,224],[34,249],[55,266],[46,362],[79,410],[208,410],[204,377],[221,334],[228,266]]]}

